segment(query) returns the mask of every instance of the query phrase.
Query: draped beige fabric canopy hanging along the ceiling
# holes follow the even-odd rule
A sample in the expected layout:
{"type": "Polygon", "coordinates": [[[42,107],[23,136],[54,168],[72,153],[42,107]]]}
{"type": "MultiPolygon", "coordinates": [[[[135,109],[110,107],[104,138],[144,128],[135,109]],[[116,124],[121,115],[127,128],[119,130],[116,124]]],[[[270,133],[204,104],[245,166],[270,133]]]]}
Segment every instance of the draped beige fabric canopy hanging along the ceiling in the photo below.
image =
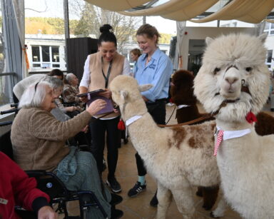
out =
{"type": "Polygon", "coordinates": [[[233,0],[203,19],[193,19],[208,10],[219,0],[169,0],[164,4],[138,11],[125,11],[135,6],[141,6],[147,0],[86,0],[91,4],[110,11],[117,11],[127,16],[162,16],[175,21],[193,21],[203,23],[214,20],[245,21],[259,23],[263,21],[274,8],[274,0],[233,0]]]}

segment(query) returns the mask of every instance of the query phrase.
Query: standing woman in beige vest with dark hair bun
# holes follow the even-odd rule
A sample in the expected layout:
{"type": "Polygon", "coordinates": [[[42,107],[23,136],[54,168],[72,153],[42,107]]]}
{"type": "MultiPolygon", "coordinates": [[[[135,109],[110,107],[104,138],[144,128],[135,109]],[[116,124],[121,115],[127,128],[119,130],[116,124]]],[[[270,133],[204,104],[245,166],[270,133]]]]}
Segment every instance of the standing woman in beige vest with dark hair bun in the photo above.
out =
{"type": "MultiPolygon", "coordinates": [[[[118,54],[116,36],[112,32],[112,27],[105,24],[100,28],[101,36],[98,39],[98,52],[88,55],[86,58],[83,78],[79,86],[80,93],[87,91],[95,91],[104,89],[100,93],[105,98],[111,98],[111,91],[108,86],[118,75],[130,73],[128,60],[118,54]]],[[[82,98],[86,102],[86,98],[82,98]]],[[[94,117],[99,117],[96,115],[94,117]]],[[[100,118],[90,123],[92,146],[91,152],[96,159],[99,173],[103,170],[103,149],[106,143],[108,148],[108,180],[107,185],[110,186],[114,193],[121,192],[121,185],[115,178],[116,165],[118,161],[118,147],[121,144],[121,135],[118,131],[118,121],[120,115],[111,113],[108,116],[100,118]]]]}

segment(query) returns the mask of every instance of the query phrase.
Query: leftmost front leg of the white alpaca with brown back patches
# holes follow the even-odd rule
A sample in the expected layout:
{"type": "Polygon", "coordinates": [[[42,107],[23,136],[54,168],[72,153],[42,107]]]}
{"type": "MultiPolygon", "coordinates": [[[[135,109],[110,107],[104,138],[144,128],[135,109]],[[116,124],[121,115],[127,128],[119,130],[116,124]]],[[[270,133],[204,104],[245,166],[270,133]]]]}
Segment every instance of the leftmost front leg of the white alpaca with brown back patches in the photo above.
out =
{"type": "Polygon", "coordinates": [[[158,198],[158,208],[157,208],[157,219],[164,219],[166,218],[166,212],[168,210],[169,205],[171,205],[172,194],[171,190],[168,188],[163,187],[160,183],[158,183],[158,191],[157,191],[157,198],[158,198]]]}

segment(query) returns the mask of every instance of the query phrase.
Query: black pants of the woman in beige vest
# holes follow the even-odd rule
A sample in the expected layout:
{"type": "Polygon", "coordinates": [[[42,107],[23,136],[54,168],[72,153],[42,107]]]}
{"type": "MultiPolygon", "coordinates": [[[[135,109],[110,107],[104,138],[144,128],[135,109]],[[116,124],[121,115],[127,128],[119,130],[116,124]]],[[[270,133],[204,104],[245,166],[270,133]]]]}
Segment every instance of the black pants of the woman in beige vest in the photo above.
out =
{"type": "Polygon", "coordinates": [[[106,136],[108,178],[114,177],[118,161],[118,147],[121,146],[121,132],[118,130],[118,121],[119,117],[116,117],[108,120],[97,119],[89,123],[92,136],[91,153],[96,159],[100,175],[103,170],[103,149],[105,148],[106,136]]]}

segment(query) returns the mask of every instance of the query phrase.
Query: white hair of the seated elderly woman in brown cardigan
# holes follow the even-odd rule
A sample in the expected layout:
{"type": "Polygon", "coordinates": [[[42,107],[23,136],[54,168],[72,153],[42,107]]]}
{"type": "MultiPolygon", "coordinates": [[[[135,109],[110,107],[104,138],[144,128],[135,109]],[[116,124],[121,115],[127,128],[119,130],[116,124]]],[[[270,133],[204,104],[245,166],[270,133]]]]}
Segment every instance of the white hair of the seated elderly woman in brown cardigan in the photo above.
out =
{"type": "Polygon", "coordinates": [[[48,81],[33,83],[26,88],[19,101],[19,108],[40,108],[46,96],[46,86],[52,88],[48,81]]]}

